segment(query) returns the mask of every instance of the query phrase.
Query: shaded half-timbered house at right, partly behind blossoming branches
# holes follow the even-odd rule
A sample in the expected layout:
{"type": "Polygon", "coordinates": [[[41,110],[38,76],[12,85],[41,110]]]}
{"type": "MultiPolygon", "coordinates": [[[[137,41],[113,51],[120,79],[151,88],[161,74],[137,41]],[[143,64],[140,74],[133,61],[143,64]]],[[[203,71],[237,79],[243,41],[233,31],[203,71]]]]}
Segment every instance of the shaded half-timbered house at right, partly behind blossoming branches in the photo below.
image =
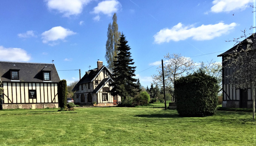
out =
{"type": "MultiPolygon", "coordinates": [[[[232,74],[236,72],[236,68],[244,67],[244,66],[237,65],[237,63],[236,63],[236,66],[234,65],[234,63],[232,64],[232,62],[234,62],[234,58],[236,57],[236,55],[230,55],[230,54],[233,54],[236,51],[241,51],[241,49],[249,50],[247,53],[249,55],[246,55],[246,56],[244,55],[244,57],[246,58],[242,59],[243,61],[246,61],[246,60],[249,61],[251,59],[256,59],[255,47],[256,47],[256,39],[255,39],[255,36],[252,35],[244,39],[241,43],[232,47],[228,51],[218,55],[218,57],[220,56],[222,57],[222,93],[223,93],[222,107],[252,108],[252,97],[254,96],[252,89],[255,87],[254,83],[256,82],[256,80],[252,81],[251,84],[244,87],[235,85],[234,83],[237,80],[237,77],[236,78],[232,77],[232,74]],[[233,84],[230,80],[234,80],[233,84]]],[[[253,62],[255,62],[255,60],[253,60],[253,62]]],[[[248,69],[248,72],[249,72],[249,69],[248,69]]],[[[253,74],[249,75],[248,77],[246,77],[245,74],[240,74],[240,76],[243,78],[246,78],[245,80],[254,80],[252,79],[253,74]]],[[[241,78],[239,78],[239,80],[240,79],[241,78]]]]}

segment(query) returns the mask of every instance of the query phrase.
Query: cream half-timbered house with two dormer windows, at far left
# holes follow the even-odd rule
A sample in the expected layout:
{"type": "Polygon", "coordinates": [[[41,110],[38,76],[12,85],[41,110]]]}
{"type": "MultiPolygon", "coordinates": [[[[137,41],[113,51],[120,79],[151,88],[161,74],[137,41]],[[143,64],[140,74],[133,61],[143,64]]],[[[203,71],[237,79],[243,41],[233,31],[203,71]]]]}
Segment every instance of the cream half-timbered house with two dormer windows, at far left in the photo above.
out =
{"type": "Polygon", "coordinates": [[[54,64],[0,61],[0,80],[3,109],[59,107],[60,78],[54,64]]]}

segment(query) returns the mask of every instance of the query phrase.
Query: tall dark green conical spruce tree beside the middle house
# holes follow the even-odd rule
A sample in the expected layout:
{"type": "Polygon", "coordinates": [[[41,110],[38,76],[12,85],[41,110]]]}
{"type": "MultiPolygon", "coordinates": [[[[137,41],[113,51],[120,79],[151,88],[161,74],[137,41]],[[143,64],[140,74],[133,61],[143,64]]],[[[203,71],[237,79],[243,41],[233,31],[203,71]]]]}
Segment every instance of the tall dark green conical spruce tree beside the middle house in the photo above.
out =
{"type": "Polygon", "coordinates": [[[119,53],[116,56],[116,61],[114,61],[114,70],[113,70],[113,83],[109,86],[113,86],[110,91],[111,95],[120,95],[122,99],[126,99],[127,97],[134,96],[138,89],[136,84],[137,79],[132,77],[135,76],[135,68],[136,66],[132,66],[134,62],[131,59],[131,52],[129,51],[131,48],[127,45],[128,41],[125,39],[124,34],[121,34],[119,39],[119,44],[117,50],[119,53]]]}

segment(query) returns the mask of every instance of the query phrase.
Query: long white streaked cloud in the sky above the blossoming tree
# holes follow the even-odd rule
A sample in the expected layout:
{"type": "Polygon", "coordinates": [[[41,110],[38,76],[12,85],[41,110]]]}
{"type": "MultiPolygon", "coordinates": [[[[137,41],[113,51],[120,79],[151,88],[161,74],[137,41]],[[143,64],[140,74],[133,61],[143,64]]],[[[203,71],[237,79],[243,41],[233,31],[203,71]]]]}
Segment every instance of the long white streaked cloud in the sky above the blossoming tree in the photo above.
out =
{"type": "Polygon", "coordinates": [[[194,40],[210,40],[216,37],[220,37],[223,34],[229,33],[230,30],[234,29],[236,23],[231,24],[209,24],[194,27],[193,25],[184,26],[179,23],[173,26],[171,29],[164,28],[154,35],[154,42],[161,44],[169,41],[180,41],[187,38],[194,40]]]}

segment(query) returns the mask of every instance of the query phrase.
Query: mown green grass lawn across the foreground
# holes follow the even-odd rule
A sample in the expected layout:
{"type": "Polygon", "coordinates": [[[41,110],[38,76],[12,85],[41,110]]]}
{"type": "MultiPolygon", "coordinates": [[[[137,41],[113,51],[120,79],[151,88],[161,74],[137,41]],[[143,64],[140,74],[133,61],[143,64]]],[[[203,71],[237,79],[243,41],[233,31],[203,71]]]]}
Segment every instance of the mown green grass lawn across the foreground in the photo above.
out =
{"type": "Polygon", "coordinates": [[[0,110],[0,145],[255,145],[251,112],[179,117],[161,108],[0,110]]]}

